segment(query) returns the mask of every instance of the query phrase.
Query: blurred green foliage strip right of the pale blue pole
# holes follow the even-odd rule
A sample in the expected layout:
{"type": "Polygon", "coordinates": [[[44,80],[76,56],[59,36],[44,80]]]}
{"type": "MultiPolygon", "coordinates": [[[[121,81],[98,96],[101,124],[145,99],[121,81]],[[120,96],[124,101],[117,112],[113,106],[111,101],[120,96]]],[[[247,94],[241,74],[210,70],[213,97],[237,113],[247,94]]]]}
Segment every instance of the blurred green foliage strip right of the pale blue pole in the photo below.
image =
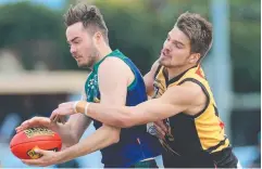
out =
{"type": "Polygon", "coordinates": [[[235,92],[261,91],[261,1],[230,0],[235,92]]]}

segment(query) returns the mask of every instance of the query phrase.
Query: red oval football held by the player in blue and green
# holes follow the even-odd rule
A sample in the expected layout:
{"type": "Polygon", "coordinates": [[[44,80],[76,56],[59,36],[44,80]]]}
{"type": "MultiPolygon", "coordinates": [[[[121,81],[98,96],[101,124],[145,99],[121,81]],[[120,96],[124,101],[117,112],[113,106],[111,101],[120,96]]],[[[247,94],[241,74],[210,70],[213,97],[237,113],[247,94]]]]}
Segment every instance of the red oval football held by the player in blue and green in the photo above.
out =
{"type": "Polygon", "coordinates": [[[60,151],[62,146],[61,138],[58,133],[46,128],[30,128],[14,135],[10,143],[11,152],[20,159],[36,159],[40,154],[34,148],[45,151],[60,151]]]}

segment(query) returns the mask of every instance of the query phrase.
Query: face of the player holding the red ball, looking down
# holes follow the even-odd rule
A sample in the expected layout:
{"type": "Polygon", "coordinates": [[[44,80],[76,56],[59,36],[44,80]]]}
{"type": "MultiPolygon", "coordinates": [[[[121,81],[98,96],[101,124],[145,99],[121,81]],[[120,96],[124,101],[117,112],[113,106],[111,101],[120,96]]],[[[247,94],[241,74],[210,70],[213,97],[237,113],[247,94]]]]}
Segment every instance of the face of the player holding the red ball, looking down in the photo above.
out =
{"type": "Polygon", "coordinates": [[[70,52],[77,62],[78,67],[91,68],[97,60],[98,51],[87,29],[79,22],[68,26],[65,34],[70,43],[70,52]]]}

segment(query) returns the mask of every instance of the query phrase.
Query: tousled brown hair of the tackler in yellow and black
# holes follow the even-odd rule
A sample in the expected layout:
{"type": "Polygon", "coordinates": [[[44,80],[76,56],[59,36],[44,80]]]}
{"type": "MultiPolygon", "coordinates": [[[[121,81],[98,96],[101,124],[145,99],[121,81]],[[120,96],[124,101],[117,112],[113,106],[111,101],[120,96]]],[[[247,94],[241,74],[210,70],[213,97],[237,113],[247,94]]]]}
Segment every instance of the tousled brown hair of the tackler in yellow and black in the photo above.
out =
{"type": "Polygon", "coordinates": [[[212,24],[196,13],[182,14],[175,24],[189,39],[191,53],[200,53],[200,60],[212,46],[212,24]]]}

